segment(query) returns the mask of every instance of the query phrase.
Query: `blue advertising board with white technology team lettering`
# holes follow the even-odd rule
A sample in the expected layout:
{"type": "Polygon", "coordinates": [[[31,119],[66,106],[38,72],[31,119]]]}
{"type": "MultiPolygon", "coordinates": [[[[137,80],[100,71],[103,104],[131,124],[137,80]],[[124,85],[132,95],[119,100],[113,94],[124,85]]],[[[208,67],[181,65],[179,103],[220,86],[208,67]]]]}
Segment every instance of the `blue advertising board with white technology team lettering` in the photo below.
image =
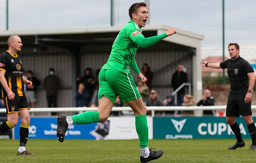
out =
{"type": "MultiPolygon", "coordinates": [[[[29,126],[29,139],[57,139],[56,129],[57,122],[56,118],[30,118],[29,126]]],[[[69,130],[65,134],[65,139],[95,139],[90,134],[91,131],[95,130],[97,123],[89,125],[71,125],[69,130]]],[[[19,126],[20,120],[15,127],[14,138],[19,139],[19,126]]]]}

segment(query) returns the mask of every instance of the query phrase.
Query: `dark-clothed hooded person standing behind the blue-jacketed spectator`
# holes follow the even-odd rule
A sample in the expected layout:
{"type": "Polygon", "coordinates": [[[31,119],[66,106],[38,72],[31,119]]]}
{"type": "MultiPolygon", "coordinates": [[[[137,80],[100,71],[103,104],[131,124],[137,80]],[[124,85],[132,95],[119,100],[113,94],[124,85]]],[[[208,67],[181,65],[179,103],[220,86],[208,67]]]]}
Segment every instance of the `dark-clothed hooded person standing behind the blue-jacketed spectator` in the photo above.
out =
{"type": "Polygon", "coordinates": [[[88,91],[89,93],[89,98],[91,99],[92,97],[92,91],[93,91],[93,86],[91,85],[91,81],[94,80],[94,76],[91,74],[91,68],[87,67],[84,70],[84,76],[79,80],[79,83],[84,84],[84,89],[88,91]]]}

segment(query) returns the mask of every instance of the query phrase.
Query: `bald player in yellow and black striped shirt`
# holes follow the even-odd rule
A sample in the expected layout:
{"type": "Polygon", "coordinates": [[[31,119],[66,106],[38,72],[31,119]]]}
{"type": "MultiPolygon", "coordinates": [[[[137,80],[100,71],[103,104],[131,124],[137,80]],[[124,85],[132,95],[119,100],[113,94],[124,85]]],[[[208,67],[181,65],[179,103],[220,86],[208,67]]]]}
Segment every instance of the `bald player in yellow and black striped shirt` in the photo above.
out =
{"type": "Polygon", "coordinates": [[[31,88],[32,82],[22,75],[22,58],[16,54],[21,51],[21,39],[12,35],[8,39],[9,49],[0,55],[0,82],[2,97],[7,112],[7,121],[0,125],[0,135],[14,128],[20,118],[20,147],[17,155],[35,155],[26,151],[29,136],[29,104],[24,93],[24,83],[31,88]]]}

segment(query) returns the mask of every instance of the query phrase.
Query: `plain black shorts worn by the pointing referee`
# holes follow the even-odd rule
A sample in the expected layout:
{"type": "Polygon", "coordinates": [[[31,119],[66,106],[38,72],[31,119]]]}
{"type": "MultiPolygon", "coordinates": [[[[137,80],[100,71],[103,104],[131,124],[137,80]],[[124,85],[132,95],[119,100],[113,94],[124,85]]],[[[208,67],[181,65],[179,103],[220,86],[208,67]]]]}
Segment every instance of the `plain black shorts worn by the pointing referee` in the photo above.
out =
{"type": "Polygon", "coordinates": [[[248,90],[247,88],[230,90],[229,99],[227,100],[227,110],[226,110],[227,117],[240,117],[240,115],[241,116],[252,115],[252,109],[251,109],[252,102],[250,101],[249,104],[246,104],[244,102],[247,90],[248,90]]]}

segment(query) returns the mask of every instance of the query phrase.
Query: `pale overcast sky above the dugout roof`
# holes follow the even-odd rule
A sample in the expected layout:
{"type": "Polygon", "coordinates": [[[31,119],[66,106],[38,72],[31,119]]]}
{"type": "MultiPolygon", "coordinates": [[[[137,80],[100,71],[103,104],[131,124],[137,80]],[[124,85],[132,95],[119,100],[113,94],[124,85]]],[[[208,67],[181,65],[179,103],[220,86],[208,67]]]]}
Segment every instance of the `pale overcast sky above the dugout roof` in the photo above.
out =
{"type": "MultiPolygon", "coordinates": [[[[203,35],[202,57],[222,55],[222,0],[148,1],[150,24],[203,35]]],[[[138,1],[113,2],[114,25],[123,26],[129,7],[138,1]]],[[[110,0],[9,0],[9,30],[108,27],[110,8],[110,0]]],[[[0,0],[0,22],[0,31],[6,30],[6,0],[0,0]]],[[[225,47],[237,42],[244,58],[255,59],[255,27],[256,0],[225,0],[225,47]]]]}

